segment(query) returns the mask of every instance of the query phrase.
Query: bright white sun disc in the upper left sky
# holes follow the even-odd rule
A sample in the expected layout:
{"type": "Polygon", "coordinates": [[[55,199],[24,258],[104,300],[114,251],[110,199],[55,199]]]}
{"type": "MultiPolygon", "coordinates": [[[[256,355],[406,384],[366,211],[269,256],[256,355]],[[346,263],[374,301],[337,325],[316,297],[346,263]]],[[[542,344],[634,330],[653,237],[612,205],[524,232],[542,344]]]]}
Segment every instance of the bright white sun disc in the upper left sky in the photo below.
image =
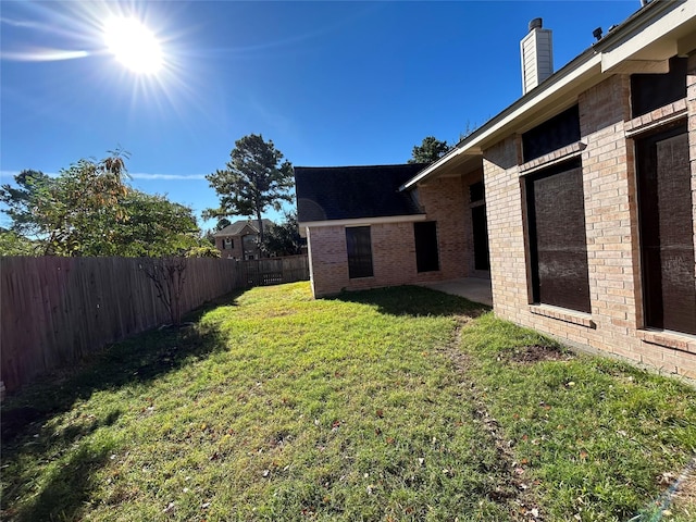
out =
{"type": "Polygon", "coordinates": [[[150,29],[132,17],[111,17],[103,37],[116,60],[138,74],[156,74],[162,69],[162,50],[150,29]]]}

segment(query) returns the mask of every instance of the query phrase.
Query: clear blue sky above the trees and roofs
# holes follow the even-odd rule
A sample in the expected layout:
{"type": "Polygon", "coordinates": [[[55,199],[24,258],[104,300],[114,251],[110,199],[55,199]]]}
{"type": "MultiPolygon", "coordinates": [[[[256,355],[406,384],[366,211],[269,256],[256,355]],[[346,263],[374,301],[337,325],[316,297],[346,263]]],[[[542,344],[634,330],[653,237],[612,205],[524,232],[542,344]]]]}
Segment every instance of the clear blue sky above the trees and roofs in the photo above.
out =
{"type": "Polygon", "coordinates": [[[521,96],[530,20],[554,30],[558,70],[639,5],[3,0],[0,182],[121,148],[133,186],[200,214],[217,204],[203,176],[251,133],[295,165],[406,162],[425,136],[456,142],[521,96]],[[107,49],[104,21],[124,14],[159,40],[158,74],[107,49]]]}

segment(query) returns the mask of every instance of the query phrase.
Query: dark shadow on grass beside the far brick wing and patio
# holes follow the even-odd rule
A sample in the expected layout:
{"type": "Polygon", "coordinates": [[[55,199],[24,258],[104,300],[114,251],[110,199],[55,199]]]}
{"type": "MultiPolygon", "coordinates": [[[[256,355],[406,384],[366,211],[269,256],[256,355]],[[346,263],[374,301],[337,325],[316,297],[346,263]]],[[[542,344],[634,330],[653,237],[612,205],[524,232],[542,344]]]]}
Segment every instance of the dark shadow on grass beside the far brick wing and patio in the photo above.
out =
{"type": "Polygon", "coordinates": [[[380,313],[388,315],[477,318],[490,310],[485,304],[472,302],[463,297],[411,285],[345,291],[333,299],[375,306],[380,313]]]}

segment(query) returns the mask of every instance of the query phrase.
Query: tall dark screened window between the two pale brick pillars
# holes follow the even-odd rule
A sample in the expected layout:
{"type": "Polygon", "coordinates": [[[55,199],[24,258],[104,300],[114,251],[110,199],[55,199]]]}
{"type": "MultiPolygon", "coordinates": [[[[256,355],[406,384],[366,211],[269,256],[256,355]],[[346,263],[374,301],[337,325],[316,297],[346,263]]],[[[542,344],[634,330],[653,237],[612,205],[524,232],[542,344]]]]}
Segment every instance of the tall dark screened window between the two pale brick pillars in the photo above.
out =
{"type": "Polygon", "coordinates": [[[580,161],[529,178],[526,191],[534,301],[589,312],[580,161]]]}

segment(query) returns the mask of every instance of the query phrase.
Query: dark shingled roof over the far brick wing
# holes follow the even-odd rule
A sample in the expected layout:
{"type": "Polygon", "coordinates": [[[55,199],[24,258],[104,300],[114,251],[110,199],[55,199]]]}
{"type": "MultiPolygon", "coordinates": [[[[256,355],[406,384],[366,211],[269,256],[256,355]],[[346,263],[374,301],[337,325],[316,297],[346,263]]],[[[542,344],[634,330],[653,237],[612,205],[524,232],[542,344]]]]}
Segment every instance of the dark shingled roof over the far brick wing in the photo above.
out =
{"type": "Polygon", "coordinates": [[[370,166],[296,166],[297,217],[300,223],[419,214],[399,187],[423,163],[370,166]]]}

